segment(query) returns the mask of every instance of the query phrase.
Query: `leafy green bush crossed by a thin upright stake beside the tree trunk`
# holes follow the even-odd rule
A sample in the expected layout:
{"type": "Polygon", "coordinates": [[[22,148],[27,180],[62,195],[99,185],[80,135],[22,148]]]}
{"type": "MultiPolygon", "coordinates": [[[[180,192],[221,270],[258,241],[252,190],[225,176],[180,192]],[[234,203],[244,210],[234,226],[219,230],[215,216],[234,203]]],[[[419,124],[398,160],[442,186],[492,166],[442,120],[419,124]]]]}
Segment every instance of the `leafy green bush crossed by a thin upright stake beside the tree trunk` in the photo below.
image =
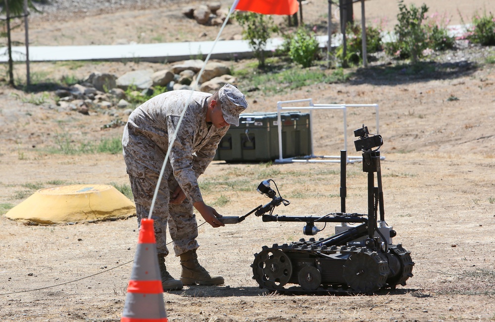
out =
{"type": "MultiPolygon", "coordinates": [[[[366,27],[366,52],[368,54],[381,51],[382,48],[382,38],[380,35],[381,31],[377,27],[368,26],[366,27]]],[[[347,63],[359,64],[363,61],[362,53],[362,29],[357,23],[349,24],[346,27],[346,57],[344,55],[344,46],[340,45],[337,48],[337,58],[346,61],[347,63]]]]}

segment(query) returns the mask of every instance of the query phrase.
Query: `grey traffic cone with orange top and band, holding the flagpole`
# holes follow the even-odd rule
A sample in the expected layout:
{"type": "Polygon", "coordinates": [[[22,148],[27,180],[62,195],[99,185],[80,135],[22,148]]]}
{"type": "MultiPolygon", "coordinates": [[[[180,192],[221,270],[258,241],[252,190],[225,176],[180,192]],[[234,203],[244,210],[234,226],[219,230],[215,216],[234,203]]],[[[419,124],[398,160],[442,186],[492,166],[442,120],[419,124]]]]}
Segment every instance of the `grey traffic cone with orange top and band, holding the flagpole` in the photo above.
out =
{"type": "Polygon", "coordinates": [[[121,322],[167,322],[153,219],[143,218],[121,322]]]}

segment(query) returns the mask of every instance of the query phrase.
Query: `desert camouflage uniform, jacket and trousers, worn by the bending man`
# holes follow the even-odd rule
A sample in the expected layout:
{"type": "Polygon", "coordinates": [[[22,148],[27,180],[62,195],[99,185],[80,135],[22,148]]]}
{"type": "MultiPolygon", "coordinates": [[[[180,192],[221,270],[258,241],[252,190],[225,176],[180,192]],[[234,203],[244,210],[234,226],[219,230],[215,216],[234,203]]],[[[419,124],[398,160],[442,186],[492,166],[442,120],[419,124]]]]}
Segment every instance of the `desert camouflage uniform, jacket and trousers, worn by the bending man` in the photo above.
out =
{"type": "Polygon", "coordinates": [[[175,255],[198,248],[198,225],[193,204],[202,201],[198,176],[213,160],[221,138],[229,126],[216,128],[205,121],[211,94],[175,90],[155,96],[129,116],[124,128],[122,146],[131,182],[138,225],[147,218],[158,176],[167,153],[170,138],[187,106],[177,137],[170,152],[151,218],[154,220],[158,254],[168,254],[167,224],[174,241],[175,255]],[[186,195],[181,204],[170,204],[170,196],[180,185],[186,195]]]}

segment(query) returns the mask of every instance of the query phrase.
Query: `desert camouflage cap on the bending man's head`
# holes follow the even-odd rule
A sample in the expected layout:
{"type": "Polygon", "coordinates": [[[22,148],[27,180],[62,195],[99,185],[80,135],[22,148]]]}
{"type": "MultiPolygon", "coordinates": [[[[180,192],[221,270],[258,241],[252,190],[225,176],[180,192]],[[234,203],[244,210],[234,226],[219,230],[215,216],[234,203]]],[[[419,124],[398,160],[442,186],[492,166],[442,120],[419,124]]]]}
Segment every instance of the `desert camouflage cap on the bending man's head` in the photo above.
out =
{"type": "Polygon", "coordinates": [[[223,118],[230,125],[239,126],[239,114],[247,109],[246,96],[232,84],[225,84],[218,90],[223,118]]]}

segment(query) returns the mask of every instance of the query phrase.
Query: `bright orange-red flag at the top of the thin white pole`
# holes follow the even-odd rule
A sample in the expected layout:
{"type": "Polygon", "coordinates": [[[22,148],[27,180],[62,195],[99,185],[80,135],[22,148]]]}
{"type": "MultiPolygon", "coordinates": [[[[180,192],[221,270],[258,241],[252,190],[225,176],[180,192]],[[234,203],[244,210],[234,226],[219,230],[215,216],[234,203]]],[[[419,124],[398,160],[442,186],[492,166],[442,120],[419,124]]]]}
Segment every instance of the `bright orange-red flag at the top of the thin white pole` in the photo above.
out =
{"type": "Polygon", "coordinates": [[[297,0],[239,0],[237,10],[262,14],[293,15],[299,9],[297,0]]]}

